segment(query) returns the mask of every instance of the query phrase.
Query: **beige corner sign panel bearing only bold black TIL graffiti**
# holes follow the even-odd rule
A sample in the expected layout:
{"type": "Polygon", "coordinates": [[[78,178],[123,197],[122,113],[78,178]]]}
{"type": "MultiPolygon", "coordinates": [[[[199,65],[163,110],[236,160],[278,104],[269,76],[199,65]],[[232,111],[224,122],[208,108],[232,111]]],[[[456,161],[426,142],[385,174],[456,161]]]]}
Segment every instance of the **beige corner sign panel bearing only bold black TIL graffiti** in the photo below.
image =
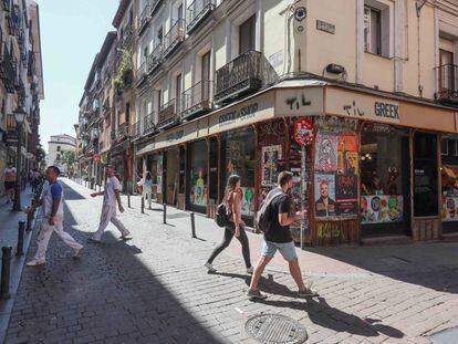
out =
{"type": "Polygon", "coordinates": [[[277,116],[316,116],[321,114],[323,114],[323,87],[277,91],[277,116]]]}

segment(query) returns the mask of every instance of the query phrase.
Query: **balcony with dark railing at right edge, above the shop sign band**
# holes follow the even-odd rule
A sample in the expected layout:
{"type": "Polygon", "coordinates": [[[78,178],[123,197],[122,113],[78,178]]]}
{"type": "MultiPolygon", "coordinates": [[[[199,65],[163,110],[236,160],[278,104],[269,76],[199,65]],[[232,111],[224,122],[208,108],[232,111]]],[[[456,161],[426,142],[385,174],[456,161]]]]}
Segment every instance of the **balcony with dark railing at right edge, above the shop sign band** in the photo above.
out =
{"type": "Polygon", "coordinates": [[[443,104],[458,105],[458,65],[445,64],[435,71],[438,86],[435,100],[443,104]]]}

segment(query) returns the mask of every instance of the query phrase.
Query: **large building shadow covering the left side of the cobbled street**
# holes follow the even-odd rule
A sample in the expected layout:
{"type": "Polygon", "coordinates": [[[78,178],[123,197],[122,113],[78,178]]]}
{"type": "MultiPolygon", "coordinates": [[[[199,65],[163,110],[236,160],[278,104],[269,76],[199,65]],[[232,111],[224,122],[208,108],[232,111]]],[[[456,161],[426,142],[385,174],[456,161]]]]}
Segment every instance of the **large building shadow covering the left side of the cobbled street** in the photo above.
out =
{"type": "MultiPolygon", "coordinates": [[[[65,192],[75,197],[69,187],[65,192]]],[[[87,210],[100,216],[100,209],[87,210]]],[[[23,271],[7,343],[220,343],[136,257],[142,250],[110,231],[102,244],[89,244],[92,225],[84,221],[65,209],[65,230],[84,244],[80,259],[54,233],[46,264],[23,271]]],[[[29,259],[35,250],[34,237],[29,259]]],[[[164,262],[153,263],[156,270],[164,262]]]]}

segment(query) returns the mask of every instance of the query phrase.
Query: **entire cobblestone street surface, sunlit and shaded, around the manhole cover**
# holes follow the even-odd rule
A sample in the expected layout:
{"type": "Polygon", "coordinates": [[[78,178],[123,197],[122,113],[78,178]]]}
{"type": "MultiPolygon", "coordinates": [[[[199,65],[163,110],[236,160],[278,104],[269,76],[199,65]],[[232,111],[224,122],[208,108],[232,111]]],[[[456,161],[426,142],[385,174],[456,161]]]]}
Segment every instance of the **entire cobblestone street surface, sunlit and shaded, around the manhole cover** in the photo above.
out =
{"type": "MultiPolygon", "coordinates": [[[[101,199],[65,183],[65,228],[83,242],[101,199]]],[[[458,325],[457,243],[298,250],[320,298],[294,298],[278,257],[261,282],[269,299],[252,303],[236,240],[208,274],[202,263],[222,237],[211,220],[196,217],[200,239],[191,239],[186,212],[169,208],[169,225],[160,225],[159,209],[140,215],[138,206],[133,197],[121,216],[131,241],[110,226],[102,244],[84,243],[73,260],[51,239],[46,265],[23,271],[7,343],[254,343],[244,323],[260,313],[298,320],[306,343],[429,343],[431,333],[458,325]]],[[[256,261],[261,237],[249,239],[256,261]]]]}

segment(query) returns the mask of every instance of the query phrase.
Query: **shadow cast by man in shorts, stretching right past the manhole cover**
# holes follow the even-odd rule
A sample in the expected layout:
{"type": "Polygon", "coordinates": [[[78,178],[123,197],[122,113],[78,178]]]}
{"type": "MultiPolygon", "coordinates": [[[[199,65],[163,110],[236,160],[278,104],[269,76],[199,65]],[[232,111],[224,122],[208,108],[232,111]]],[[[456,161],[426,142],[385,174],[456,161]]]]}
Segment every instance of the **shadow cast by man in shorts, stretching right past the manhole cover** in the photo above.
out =
{"type": "Polygon", "coordinates": [[[326,327],[335,332],[347,332],[351,334],[366,337],[377,336],[382,333],[394,338],[404,337],[404,333],[392,326],[383,325],[376,319],[361,319],[356,315],[348,314],[327,304],[324,298],[306,299],[300,301],[274,301],[260,300],[259,303],[277,306],[289,307],[299,311],[305,311],[309,319],[321,327],[326,327]]]}

